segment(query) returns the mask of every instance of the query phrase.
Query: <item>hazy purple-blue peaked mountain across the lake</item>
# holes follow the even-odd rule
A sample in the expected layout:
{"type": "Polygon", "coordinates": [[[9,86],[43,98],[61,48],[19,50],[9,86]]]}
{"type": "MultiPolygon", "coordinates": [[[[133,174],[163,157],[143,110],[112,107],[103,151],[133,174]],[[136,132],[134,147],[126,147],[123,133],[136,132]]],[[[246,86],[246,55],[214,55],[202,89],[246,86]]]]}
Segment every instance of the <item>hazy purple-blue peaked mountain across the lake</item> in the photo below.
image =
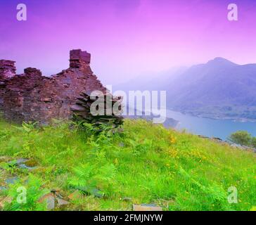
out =
{"type": "Polygon", "coordinates": [[[256,64],[224,58],[194,65],[165,86],[167,105],[201,117],[256,120],[256,64]]]}

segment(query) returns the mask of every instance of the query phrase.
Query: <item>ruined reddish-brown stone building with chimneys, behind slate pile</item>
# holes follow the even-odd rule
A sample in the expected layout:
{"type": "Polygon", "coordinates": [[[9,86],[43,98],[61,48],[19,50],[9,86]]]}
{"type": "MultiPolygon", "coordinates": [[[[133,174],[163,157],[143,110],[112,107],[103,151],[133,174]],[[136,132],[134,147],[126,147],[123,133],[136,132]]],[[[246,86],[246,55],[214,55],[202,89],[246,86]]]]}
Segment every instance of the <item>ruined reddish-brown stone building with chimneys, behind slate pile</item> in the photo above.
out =
{"type": "Polygon", "coordinates": [[[91,55],[80,49],[70,51],[70,68],[45,77],[36,68],[15,74],[15,62],[0,60],[0,111],[9,121],[38,121],[68,118],[70,107],[82,91],[105,87],[90,68],[91,55]]]}

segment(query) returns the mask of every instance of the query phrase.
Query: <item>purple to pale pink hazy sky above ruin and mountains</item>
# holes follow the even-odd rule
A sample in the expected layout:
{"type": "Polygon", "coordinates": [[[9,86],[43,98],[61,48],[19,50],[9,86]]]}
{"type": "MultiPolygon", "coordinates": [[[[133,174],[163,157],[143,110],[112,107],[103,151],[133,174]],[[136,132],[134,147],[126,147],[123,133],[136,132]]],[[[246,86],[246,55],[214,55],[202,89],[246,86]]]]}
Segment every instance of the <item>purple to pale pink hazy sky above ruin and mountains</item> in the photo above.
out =
{"type": "Polygon", "coordinates": [[[255,0],[0,0],[0,58],[18,72],[68,68],[70,49],[91,53],[104,84],[222,56],[256,63],[255,0]],[[27,21],[16,20],[18,3],[27,21]],[[238,21],[227,6],[238,5],[238,21]]]}

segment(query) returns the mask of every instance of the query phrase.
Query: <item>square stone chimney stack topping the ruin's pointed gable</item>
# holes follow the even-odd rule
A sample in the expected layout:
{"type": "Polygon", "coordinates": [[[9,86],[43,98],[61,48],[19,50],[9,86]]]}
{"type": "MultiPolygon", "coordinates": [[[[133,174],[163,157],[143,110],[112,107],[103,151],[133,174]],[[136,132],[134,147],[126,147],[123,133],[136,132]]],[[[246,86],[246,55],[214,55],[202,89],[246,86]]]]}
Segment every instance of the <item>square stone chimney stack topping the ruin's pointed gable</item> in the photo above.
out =
{"type": "Polygon", "coordinates": [[[91,62],[91,54],[81,49],[70,51],[70,68],[88,68],[91,62]]]}

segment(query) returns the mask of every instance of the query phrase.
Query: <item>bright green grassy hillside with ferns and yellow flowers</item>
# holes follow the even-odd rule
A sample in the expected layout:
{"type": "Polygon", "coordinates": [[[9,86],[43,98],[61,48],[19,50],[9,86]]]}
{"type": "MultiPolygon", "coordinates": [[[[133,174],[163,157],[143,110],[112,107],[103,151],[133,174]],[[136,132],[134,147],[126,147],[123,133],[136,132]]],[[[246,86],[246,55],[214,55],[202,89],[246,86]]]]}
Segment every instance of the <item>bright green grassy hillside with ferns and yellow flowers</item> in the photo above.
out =
{"type": "MultiPolygon", "coordinates": [[[[252,210],[256,206],[256,155],[144,120],[125,120],[122,134],[92,135],[70,122],[35,129],[0,122],[0,191],[14,200],[4,210],[44,210],[38,198],[52,188],[64,199],[82,198],[65,210],[132,210],[156,203],[163,210],[252,210]],[[31,171],[7,163],[29,158],[31,171]],[[18,204],[16,189],[27,188],[18,204]],[[236,186],[238,203],[227,201],[236,186]],[[98,197],[97,197],[98,196],[98,197]]],[[[62,210],[56,208],[56,210],[62,210]]]]}

